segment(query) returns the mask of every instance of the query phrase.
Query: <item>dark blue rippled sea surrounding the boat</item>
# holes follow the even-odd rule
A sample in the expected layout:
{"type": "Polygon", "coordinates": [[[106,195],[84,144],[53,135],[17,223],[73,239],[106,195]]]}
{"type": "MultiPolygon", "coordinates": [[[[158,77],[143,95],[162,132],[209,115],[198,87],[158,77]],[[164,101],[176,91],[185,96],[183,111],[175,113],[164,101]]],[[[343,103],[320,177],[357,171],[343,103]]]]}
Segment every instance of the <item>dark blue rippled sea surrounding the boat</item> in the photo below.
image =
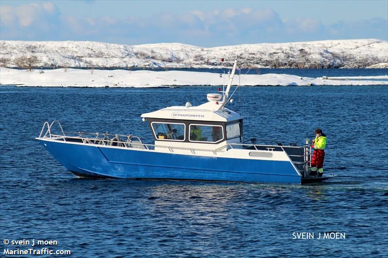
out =
{"type": "MultiPolygon", "coordinates": [[[[309,77],[388,74],[290,70],[309,77]]],[[[77,258],[388,257],[387,85],[235,91],[228,107],[244,117],[244,140],[303,145],[323,130],[324,171],[335,177],[322,183],[81,179],[34,139],[44,121],[59,120],[65,131],[132,134],[152,143],[142,113],[199,105],[217,88],[0,86],[0,257],[52,257],[20,254],[44,248],[77,258]]]]}

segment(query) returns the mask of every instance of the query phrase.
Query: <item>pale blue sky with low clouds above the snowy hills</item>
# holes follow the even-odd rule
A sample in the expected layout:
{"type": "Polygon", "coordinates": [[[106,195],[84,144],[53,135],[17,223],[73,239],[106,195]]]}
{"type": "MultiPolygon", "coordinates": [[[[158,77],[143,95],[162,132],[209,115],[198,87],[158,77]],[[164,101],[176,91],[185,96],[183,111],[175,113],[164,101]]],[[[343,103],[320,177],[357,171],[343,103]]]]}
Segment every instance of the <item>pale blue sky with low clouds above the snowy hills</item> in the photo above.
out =
{"type": "Polygon", "coordinates": [[[388,40],[388,0],[0,0],[0,40],[227,46],[388,40]]]}

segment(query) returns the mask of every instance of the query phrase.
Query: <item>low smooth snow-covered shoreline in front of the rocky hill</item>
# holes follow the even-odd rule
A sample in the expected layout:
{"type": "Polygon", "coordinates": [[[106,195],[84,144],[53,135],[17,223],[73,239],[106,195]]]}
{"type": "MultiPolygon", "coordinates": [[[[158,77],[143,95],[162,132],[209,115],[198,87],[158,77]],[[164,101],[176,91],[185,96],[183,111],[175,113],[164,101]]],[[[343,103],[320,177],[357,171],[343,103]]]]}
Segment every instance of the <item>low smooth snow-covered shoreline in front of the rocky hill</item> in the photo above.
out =
{"type": "MultiPolygon", "coordinates": [[[[227,76],[227,75],[226,75],[227,76]]],[[[234,84],[239,81],[235,76],[234,84]]],[[[227,78],[225,78],[225,83],[227,78]]],[[[0,68],[0,84],[32,87],[135,87],[222,86],[224,79],[215,73],[187,71],[127,71],[54,69],[17,70],[0,68]]],[[[301,77],[286,74],[242,75],[242,86],[312,86],[312,85],[388,85],[388,76],[301,77]],[[378,79],[378,81],[373,80],[378,79]]]]}

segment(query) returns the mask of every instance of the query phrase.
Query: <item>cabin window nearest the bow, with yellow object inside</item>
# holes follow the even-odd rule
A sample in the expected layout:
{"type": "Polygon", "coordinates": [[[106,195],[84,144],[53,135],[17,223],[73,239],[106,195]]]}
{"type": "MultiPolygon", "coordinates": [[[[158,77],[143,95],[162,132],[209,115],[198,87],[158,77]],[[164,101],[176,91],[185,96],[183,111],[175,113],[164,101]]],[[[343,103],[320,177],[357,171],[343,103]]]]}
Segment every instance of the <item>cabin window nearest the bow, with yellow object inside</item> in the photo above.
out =
{"type": "Polygon", "coordinates": [[[152,122],[151,125],[158,140],[185,140],[186,125],[184,123],[152,122]]]}

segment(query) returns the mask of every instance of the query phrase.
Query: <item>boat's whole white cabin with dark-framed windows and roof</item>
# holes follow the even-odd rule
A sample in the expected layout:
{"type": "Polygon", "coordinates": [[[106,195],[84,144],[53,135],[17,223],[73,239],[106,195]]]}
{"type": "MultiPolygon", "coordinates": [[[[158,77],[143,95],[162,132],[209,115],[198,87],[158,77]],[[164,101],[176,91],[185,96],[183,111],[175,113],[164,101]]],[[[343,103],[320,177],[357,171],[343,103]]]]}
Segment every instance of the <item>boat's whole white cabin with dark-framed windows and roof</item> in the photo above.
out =
{"type": "MultiPolygon", "coordinates": [[[[209,101],[200,106],[169,106],[142,114],[159,146],[183,149],[217,149],[226,143],[242,142],[242,117],[209,101]]],[[[163,148],[165,149],[165,147],[163,148]]]]}

